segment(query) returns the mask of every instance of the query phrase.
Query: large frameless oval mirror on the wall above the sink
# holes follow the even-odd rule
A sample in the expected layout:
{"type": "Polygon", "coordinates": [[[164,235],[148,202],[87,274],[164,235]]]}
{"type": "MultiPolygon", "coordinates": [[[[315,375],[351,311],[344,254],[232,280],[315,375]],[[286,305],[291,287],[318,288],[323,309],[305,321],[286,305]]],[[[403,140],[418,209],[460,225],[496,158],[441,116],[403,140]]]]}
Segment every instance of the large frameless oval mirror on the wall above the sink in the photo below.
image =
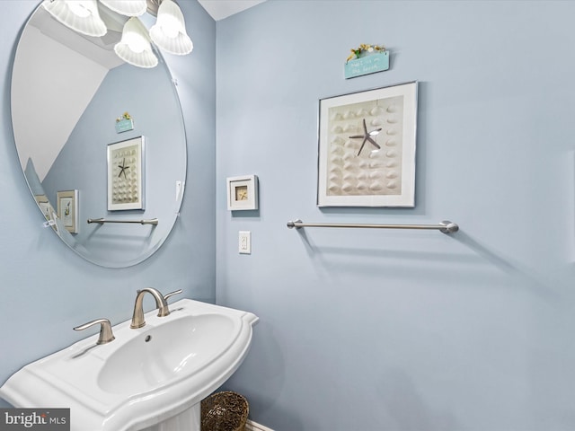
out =
{"type": "Polygon", "coordinates": [[[186,137],[160,53],[154,68],[124,63],[113,48],[128,18],[100,9],[108,27],[100,38],[69,30],[41,5],[31,15],[14,57],[13,133],[45,226],[94,264],[124,268],[173,228],[186,137]]]}

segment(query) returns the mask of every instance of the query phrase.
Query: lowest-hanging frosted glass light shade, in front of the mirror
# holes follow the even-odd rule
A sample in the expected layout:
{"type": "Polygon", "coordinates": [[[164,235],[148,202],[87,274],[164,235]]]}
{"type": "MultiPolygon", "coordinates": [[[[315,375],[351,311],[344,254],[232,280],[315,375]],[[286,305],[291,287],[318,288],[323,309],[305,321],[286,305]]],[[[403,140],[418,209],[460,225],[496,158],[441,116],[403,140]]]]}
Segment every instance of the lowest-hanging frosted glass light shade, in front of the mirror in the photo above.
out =
{"type": "Polygon", "coordinates": [[[114,47],[114,52],[132,66],[150,68],[158,64],[146,27],[135,16],[124,24],[122,39],[114,47]]]}

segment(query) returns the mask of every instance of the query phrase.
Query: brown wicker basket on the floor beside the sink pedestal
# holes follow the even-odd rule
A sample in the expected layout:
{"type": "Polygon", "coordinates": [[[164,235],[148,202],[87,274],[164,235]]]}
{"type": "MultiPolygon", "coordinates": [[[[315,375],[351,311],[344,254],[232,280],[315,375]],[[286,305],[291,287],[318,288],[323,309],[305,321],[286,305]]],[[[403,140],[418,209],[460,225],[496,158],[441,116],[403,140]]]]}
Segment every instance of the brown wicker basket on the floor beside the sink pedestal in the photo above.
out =
{"type": "Polygon", "coordinates": [[[216,392],[201,401],[201,431],[244,431],[250,407],[239,393],[216,392]]]}

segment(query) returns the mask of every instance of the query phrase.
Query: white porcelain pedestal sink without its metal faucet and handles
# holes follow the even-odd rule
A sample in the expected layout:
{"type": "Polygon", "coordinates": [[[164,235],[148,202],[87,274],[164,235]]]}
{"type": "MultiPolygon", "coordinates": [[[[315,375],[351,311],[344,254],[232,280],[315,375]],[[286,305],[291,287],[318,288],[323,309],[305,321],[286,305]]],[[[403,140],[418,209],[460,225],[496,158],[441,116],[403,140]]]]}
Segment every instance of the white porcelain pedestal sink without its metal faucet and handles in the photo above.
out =
{"type": "Polygon", "coordinates": [[[14,407],[70,408],[72,431],[159,429],[150,427],[192,408],[199,417],[199,401],[242,364],[258,318],[190,299],[170,310],[147,312],[137,330],[119,323],[111,343],[96,345],[94,335],[24,366],[0,398],[14,407]]]}

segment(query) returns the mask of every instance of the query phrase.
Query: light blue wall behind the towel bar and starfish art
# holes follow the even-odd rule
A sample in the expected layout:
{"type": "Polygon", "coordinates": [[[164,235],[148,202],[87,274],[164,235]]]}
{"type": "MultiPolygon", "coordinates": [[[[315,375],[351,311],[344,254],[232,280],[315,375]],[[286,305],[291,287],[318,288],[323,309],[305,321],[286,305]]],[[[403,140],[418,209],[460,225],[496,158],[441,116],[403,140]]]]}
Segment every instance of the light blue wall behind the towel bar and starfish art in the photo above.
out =
{"type": "Polygon", "coordinates": [[[575,2],[283,1],[217,22],[228,387],[276,430],[575,429],[575,2]],[[349,48],[389,71],[343,79],[349,48]],[[318,100],[419,80],[416,207],[315,207],[318,100]],[[260,177],[259,212],[226,177],[260,177]],[[461,232],[288,230],[437,223],[461,232]],[[237,252],[252,232],[252,254],[237,252]]]}

